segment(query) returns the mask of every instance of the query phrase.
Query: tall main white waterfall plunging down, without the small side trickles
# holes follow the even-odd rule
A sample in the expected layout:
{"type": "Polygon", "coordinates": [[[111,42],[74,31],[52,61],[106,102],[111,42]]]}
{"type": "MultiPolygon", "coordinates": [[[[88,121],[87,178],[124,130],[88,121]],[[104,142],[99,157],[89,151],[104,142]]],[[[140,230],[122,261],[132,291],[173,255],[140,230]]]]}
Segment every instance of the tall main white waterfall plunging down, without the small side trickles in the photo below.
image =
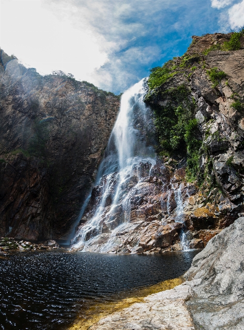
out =
{"type": "Polygon", "coordinates": [[[140,164],[155,165],[155,152],[152,143],[148,143],[153,123],[143,102],[144,85],[145,79],[122,95],[120,112],[96,179],[101,198],[92,217],[76,232],[71,242],[74,248],[88,251],[97,242],[97,251],[107,252],[116,246],[116,232],[130,222],[133,189],[127,194],[124,187],[128,180],[136,185],[140,182],[140,164]]]}

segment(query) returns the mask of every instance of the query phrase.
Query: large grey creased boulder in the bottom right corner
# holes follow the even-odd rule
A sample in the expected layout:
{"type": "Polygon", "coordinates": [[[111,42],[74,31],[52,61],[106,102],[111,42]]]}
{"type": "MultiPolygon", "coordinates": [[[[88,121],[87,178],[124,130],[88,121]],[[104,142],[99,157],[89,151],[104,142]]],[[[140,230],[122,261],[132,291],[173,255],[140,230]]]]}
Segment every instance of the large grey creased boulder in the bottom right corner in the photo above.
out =
{"type": "Polygon", "coordinates": [[[184,278],[196,329],[244,329],[244,217],[213,237],[184,278]]]}

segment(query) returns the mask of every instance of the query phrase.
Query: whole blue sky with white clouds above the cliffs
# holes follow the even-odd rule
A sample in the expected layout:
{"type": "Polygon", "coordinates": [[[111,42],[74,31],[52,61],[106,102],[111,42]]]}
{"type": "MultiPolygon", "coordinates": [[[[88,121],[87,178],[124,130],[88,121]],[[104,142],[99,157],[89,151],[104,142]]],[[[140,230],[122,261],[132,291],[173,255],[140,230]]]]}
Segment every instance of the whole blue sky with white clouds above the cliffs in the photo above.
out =
{"type": "Polygon", "coordinates": [[[192,35],[244,26],[244,0],[0,0],[0,48],[120,94],[192,35]]]}

